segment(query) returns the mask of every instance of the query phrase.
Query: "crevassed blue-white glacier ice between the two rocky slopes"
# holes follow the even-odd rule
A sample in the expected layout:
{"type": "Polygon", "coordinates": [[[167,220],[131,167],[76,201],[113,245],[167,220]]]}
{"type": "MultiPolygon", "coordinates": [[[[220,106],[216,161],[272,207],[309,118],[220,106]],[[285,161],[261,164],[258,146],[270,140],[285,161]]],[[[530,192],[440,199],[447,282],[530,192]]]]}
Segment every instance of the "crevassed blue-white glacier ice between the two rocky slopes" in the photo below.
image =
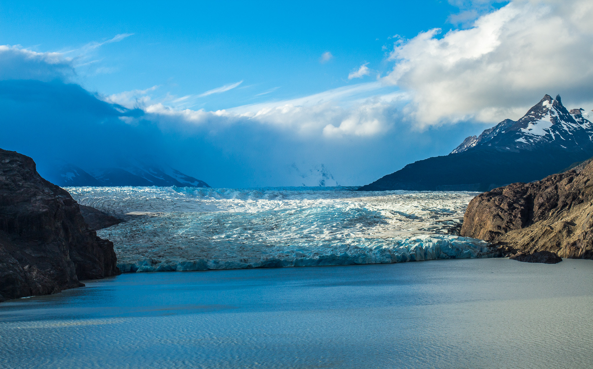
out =
{"type": "Polygon", "coordinates": [[[489,257],[458,236],[474,192],[355,192],[349,187],[69,187],[126,218],[97,232],[122,272],[395,263],[489,257]]]}

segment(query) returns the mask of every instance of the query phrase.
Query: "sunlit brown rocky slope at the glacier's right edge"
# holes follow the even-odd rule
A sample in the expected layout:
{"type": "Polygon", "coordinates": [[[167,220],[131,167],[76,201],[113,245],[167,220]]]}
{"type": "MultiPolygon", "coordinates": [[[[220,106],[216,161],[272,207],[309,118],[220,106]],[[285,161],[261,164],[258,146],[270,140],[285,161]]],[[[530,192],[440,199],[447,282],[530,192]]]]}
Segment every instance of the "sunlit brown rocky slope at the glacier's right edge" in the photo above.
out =
{"type": "Polygon", "coordinates": [[[461,235],[498,243],[503,254],[549,251],[593,259],[593,163],[471,200],[461,235]]]}

